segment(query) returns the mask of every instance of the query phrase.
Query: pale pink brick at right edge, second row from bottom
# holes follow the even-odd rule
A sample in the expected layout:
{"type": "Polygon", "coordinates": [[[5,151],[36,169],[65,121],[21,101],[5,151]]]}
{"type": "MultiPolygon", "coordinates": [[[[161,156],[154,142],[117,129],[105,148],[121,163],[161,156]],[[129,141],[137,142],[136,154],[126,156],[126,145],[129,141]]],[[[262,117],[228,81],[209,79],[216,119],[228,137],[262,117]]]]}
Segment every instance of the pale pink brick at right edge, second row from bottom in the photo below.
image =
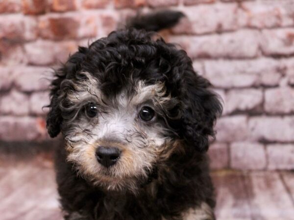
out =
{"type": "Polygon", "coordinates": [[[248,121],[250,139],[259,141],[294,141],[293,116],[256,116],[248,121]]]}

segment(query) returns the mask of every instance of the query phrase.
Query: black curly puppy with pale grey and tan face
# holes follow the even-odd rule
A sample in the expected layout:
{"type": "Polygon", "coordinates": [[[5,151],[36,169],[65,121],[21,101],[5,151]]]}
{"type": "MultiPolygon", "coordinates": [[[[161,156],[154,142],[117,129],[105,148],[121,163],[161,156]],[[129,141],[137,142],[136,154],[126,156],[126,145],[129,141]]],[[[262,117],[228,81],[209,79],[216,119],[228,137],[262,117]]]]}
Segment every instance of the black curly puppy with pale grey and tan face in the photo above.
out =
{"type": "Polygon", "coordinates": [[[215,219],[206,151],[221,104],[184,50],[148,32],[182,16],[136,17],[56,71],[47,128],[63,136],[65,219],[215,219]]]}

